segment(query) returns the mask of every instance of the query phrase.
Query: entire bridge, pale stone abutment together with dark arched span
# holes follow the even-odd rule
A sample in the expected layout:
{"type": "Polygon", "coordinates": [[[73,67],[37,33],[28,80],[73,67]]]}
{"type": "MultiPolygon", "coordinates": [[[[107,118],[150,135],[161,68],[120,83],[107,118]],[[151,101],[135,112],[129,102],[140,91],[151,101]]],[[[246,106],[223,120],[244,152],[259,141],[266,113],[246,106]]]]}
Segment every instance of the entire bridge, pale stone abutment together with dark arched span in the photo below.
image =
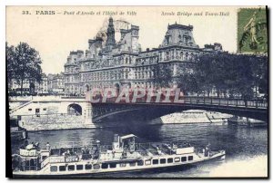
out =
{"type": "Polygon", "coordinates": [[[157,117],[187,110],[205,110],[244,116],[268,121],[268,102],[264,100],[226,99],[214,97],[183,97],[183,102],[90,102],[85,97],[44,97],[13,105],[10,99],[10,116],[22,120],[22,126],[32,126],[31,130],[94,128],[108,117],[135,112],[144,118],[157,117]],[[25,121],[25,123],[24,123],[25,121]],[[39,125],[37,125],[37,121],[39,125]],[[44,128],[44,129],[43,129],[44,128]]]}

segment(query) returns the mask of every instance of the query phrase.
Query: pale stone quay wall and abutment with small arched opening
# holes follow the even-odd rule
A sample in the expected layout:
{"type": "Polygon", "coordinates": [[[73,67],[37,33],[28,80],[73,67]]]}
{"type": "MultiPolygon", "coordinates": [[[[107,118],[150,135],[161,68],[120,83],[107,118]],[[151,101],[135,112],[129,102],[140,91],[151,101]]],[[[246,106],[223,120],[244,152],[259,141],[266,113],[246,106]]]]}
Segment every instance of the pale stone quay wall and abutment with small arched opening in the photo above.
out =
{"type": "MultiPolygon", "coordinates": [[[[17,103],[19,99],[10,100],[17,103]]],[[[26,130],[65,130],[96,128],[92,122],[92,105],[85,98],[33,97],[10,111],[26,130]],[[76,105],[76,112],[71,106],[76,105]]],[[[13,105],[13,104],[12,104],[13,105]]]]}

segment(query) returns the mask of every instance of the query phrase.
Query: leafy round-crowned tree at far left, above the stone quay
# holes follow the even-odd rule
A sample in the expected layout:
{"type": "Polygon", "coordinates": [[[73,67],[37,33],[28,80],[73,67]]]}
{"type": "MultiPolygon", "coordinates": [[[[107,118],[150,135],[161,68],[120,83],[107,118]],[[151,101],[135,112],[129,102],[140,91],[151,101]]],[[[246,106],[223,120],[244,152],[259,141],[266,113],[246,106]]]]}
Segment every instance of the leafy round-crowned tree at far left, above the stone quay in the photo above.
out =
{"type": "Polygon", "coordinates": [[[21,95],[23,95],[23,84],[25,80],[30,84],[33,84],[33,82],[41,82],[42,62],[39,53],[27,43],[19,43],[14,50],[14,55],[6,59],[11,67],[9,71],[12,71],[10,77],[20,84],[21,95]]]}

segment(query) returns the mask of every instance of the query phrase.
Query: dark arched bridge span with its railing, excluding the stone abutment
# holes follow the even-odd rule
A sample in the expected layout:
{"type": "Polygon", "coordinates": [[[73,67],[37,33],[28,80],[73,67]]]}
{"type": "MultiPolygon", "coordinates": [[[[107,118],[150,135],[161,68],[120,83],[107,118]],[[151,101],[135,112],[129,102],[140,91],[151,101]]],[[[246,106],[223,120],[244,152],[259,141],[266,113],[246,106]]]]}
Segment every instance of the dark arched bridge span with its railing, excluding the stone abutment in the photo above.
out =
{"type": "Polygon", "coordinates": [[[157,118],[162,115],[187,110],[217,111],[232,115],[244,116],[256,120],[268,120],[268,102],[264,100],[240,100],[215,97],[184,97],[182,103],[177,102],[145,102],[138,100],[127,102],[96,102],[92,103],[92,118],[102,120],[116,113],[126,111],[145,111],[157,118]]]}

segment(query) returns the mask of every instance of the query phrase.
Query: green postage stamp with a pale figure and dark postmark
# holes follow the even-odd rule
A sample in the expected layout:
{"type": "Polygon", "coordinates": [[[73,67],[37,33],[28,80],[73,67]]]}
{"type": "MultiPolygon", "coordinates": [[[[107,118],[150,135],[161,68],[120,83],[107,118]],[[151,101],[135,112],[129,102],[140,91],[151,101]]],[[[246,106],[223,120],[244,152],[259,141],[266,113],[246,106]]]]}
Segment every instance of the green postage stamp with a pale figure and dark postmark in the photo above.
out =
{"type": "Polygon", "coordinates": [[[268,52],[268,28],[266,8],[239,9],[238,52],[268,52]]]}

